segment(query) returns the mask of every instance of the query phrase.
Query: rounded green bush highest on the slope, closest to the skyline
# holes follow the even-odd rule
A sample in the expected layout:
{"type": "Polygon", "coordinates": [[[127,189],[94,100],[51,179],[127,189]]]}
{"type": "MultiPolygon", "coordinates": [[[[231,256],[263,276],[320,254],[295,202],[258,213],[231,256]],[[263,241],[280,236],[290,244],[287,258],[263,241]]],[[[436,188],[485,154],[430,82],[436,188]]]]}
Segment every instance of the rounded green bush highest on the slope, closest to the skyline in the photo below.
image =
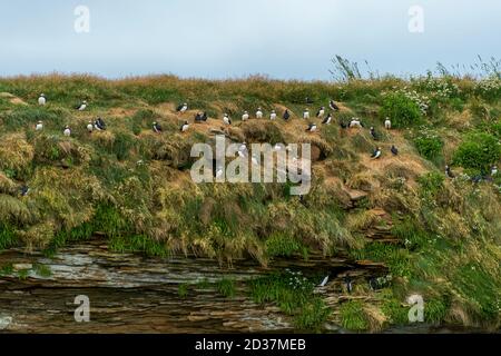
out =
{"type": "Polygon", "coordinates": [[[382,118],[389,117],[395,128],[414,126],[421,122],[420,107],[403,93],[389,93],[380,110],[382,118]]]}

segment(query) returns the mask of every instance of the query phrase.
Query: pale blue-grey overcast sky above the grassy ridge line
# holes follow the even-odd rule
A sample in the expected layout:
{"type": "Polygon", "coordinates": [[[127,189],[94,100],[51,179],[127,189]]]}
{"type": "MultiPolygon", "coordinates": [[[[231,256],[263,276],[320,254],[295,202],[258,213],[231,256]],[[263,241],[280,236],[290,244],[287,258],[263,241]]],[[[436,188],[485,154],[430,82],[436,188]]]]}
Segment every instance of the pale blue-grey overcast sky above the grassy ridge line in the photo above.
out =
{"type": "Polygon", "coordinates": [[[396,75],[501,58],[497,0],[0,0],[0,76],[263,73],[330,79],[330,59],[396,75]],[[86,6],[90,32],[77,33],[86,6]],[[423,9],[424,32],[409,31],[423,9]]]}

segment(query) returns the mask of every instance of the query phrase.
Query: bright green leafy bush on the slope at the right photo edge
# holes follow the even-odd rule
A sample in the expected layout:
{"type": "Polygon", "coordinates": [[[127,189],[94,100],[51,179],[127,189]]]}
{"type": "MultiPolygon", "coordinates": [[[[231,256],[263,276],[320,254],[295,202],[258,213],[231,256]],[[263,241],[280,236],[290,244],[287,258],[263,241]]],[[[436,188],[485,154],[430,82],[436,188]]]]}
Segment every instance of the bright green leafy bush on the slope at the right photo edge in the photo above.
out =
{"type": "Polygon", "coordinates": [[[491,165],[501,158],[499,140],[489,134],[471,134],[459,146],[454,154],[455,165],[488,172],[491,165]]]}

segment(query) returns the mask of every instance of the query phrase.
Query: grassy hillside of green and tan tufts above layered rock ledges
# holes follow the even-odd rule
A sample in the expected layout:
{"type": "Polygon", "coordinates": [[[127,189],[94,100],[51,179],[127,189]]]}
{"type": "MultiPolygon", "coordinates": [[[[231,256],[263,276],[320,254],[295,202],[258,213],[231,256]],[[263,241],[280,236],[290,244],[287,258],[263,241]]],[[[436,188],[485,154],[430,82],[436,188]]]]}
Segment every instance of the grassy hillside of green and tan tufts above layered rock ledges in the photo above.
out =
{"type": "MultiPolygon", "coordinates": [[[[423,295],[429,323],[497,328],[501,174],[480,182],[471,177],[501,167],[500,98],[499,78],[0,79],[0,249],[23,246],[50,255],[99,231],[118,251],[196,254],[223,264],[244,256],[266,265],[276,256],[344,254],[384,263],[392,276],[377,290],[355,286],[354,295],[379,303],[345,303],[340,318],[348,328],[406,323],[405,298],[412,293],[423,295]],[[41,92],[45,107],[37,105],[41,92]],[[312,119],[320,130],[306,134],[301,118],[306,97],[314,101],[312,113],[335,99],[341,111],[334,122],[312,119]],[[88,109],[76,111],[84,99],[88,109]],[[175,107],[183,101],[190,110],[178,116],[175,107]],[[258,106],[265,118],[272,109],[281,118],[285,108],[293,118],[240,122],[244,110],[253,113],[258,106]],[[209,120],[180,134],[180,122],[193,122],[198,110],[209,120]],[[303,200],[289,196],[288,185],[191,181],[191,145],[213,142],[209,130],[220,129],[224,112],[234,121],[230,140],[312,142],[313,188],[303,200]],[[86,125],[97,116],[108,130],[89,135],[86,125]],[[390,131],[383,128],[387,116],[390,131]],[[341,129],[338,121],[352,117],[365,129],[341,129]],[[35,131],[38,120],[45,123],[41,132],[35,131]],[[153,132],[153,121],[161,123],[161,135],[153,132]],[[62,135],[66,125],[70,138],[62,135]],[[383,156],[371,160],[376,146],[383,156]],[[446,164],[456,178],[445,178],[446,164]],[[22,186],[30,188],[26,196],[22,186]]],[[[287,295],[275,287],[274,296],[258,298],[287,295]]],[[[318,303],[304,306],[303,326],[327,317],[318,303]]]]}

